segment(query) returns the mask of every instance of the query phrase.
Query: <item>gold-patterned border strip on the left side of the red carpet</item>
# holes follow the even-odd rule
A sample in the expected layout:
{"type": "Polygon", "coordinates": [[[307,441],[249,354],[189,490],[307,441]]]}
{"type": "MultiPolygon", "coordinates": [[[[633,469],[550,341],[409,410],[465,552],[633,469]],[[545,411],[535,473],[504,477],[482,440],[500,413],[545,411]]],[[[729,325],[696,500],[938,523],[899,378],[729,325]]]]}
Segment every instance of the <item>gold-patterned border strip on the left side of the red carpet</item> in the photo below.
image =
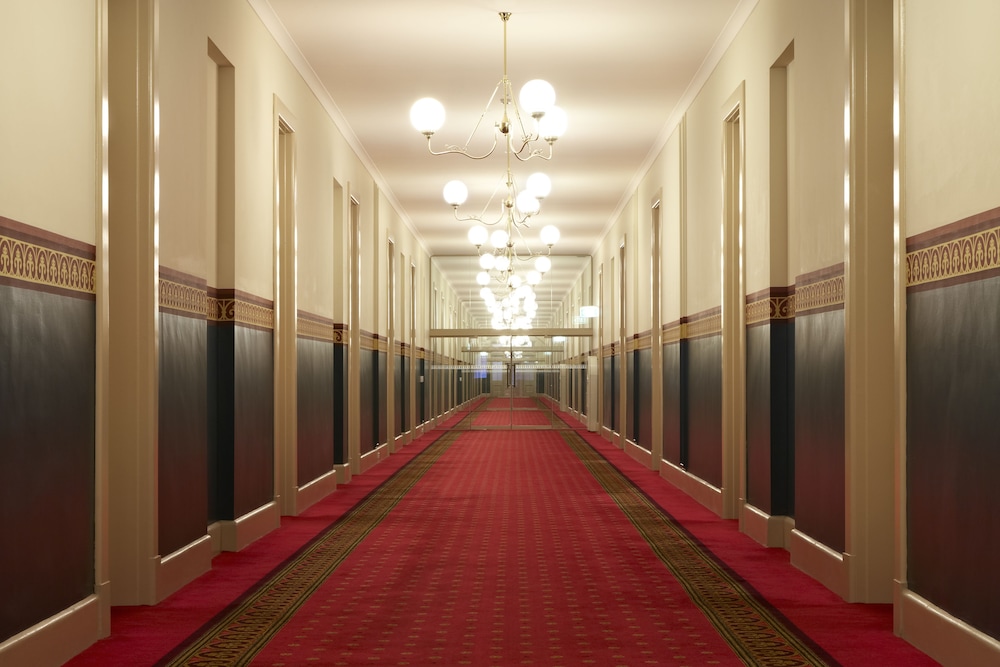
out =
{"type": "Polygon", "coordinates": [[[248,664],[460,436],[449,431],[162,665],[248,664]]]}

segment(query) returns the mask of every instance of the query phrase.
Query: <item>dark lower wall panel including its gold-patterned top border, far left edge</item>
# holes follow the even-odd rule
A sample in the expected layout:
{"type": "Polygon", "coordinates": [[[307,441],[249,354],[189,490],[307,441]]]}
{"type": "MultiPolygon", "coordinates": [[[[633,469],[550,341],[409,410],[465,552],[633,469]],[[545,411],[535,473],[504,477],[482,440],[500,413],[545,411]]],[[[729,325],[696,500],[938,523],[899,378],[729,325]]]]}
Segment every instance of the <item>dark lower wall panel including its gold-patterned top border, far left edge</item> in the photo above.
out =
{"type": "Polygon", "coordinates": [[[92,246],[0,218],[0,257],[2,642],[94,591],[96,315],[92,246]]]}

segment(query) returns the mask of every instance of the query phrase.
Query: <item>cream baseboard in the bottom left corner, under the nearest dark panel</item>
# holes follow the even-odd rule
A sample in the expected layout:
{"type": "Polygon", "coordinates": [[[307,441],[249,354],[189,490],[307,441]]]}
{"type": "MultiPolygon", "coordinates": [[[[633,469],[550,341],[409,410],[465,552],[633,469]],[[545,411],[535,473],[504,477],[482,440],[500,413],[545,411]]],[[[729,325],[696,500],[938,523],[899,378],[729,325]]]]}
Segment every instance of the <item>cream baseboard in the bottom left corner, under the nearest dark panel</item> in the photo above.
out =
{"type": "Polygon", "coordinates": [[[101,603],[97,595],[19,632],[0,643],[4,667],[58,667],[101,639],[101,603]]]}

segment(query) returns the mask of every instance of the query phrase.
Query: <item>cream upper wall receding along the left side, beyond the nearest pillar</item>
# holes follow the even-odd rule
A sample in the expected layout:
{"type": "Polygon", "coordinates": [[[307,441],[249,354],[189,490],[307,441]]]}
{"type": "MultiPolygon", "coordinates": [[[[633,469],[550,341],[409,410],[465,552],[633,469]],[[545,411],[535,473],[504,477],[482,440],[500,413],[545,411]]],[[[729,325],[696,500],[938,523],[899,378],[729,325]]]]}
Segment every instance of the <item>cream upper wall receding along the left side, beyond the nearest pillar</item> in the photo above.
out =
{"type": "Polygon", "coordinates": [[[214,180],[207,169],[207,142],[214,137],[208,122],[214,85],[209,40],[235,69],[235,287],[274,297],[280,114],[291,125],[295,151],[297,308],[349,321],[353,198],[361,231],[357,326],[384,334],[388,238],[396,242],[397,258],[425,253],[246,2],[160,5],[160,263],[197,276],[214,274],[214,193],[205,186],[214,180]]]}

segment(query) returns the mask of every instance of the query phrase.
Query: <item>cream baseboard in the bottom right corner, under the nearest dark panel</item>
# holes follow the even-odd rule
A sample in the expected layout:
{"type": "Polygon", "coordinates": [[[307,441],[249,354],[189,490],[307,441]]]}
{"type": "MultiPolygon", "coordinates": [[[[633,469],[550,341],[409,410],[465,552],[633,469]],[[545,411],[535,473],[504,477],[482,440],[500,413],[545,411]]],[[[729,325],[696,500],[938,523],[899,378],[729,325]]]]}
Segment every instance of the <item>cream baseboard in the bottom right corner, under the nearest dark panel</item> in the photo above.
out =
{"type": "Polygon", "coordinates": [[[896,634],[942,665],[1000,665],[1000,641],[896,586],[896,634]]]}

